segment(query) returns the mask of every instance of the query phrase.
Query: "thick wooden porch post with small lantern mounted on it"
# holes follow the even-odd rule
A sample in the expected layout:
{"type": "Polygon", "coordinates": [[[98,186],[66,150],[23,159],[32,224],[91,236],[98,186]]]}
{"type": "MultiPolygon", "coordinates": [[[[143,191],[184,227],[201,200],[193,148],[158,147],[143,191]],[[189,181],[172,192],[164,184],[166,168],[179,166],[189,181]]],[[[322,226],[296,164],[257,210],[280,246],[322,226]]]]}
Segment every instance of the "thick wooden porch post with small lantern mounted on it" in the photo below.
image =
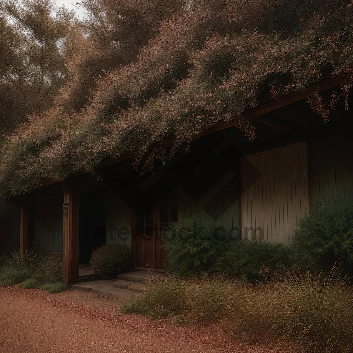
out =
{"type": "Polygon", "coordinates": [[[72,185],[62,183],[61,186],[64,190],[62,281],[72,285],[78,282],[79,271],[79,195],[72,185]]]}

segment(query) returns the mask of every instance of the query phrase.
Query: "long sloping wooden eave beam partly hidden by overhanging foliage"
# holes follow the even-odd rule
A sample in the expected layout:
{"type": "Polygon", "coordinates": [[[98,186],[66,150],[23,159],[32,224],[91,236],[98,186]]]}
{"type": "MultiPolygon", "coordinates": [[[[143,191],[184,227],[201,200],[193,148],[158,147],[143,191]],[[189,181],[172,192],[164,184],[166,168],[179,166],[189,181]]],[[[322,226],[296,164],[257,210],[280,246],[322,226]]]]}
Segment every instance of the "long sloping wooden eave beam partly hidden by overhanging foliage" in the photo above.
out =
{"type": "MultiPolygon", "coordinates": [[[[328,90],[330,88],[334,88],[334,87],[340,85],[341,83],[349,80],[350,78],[351,78],[351,73],[348,72],[346,74],[341,74],[341,75],[338,75],[335,77],[330,77],[330,78],[324,79],[316,84],[311,85],[310,87],[308,87],[307,89],[305,89],[303,91],[298,91],[298,92],[286,95],[282,98],[278,98],[274,101],[263,104],[260,107],[249,110],[241,115],[241,119],[251,120],[251,119],[255,118],[256,116],[259,116],[259,115],[262,115],[265,113],[269,113],[269,112],[272,112],[273,110],[276,110],[276,109],[285,107],[289,104],[298,102],[307,96],[313,95],[315,92],[323,92],[323,91],[328,90]]],[[[237,124],[239,124],[239,118],[236,118],[234,120],[229,120],[229,121],[222,121],[214,126],[211,126],[209,128],[205,128],[202,132],[192,136],[191,139],[195,140],[197,138],[209,135],[209,134],[214,133],[216,131],[221,131],[223,129],[226,129],[226,128],[232,127],[232,126],[237,126],[237,124]]],[[[173,143],[173,140],[174,140],[174,138],[166,139],[164,141],[164,145],[171,146],[173,143]]],[[[107,161],[102,162],[100,164],[100,167],[110,166],[112,164],[127,160],[128,158],[131,158],[131,157],[134,157],[134,155],[131,153],[126,153],[121,156],[113,157],[113,158],[108,159],[107,161]]],[[[81,172],[73,174],[73,175],[80,175],[80,174],[86,174],[86,173],[88,173],[88,171],[83,169],[81,172]]],[[[48,186],[48,185],[52,185],[55,183],[57,183],[57,181],[54,178],[51,178],[51,179],[47,179],[47,180],[43,181],[42,186],[48,186]]]]}

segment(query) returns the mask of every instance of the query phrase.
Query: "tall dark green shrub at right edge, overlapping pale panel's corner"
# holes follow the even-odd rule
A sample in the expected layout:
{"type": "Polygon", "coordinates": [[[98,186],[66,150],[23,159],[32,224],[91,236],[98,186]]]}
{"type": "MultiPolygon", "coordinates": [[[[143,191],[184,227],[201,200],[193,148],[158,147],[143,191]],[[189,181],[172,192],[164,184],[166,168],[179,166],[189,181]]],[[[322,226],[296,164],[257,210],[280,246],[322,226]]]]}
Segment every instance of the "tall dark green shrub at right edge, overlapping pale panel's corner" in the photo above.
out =
{"type": "Polygon", "coordinates": [[[302,268],[328,271],[342,263],[353,274],[353,206],[334,200],[299,219],[292,250],[302,268]]]}

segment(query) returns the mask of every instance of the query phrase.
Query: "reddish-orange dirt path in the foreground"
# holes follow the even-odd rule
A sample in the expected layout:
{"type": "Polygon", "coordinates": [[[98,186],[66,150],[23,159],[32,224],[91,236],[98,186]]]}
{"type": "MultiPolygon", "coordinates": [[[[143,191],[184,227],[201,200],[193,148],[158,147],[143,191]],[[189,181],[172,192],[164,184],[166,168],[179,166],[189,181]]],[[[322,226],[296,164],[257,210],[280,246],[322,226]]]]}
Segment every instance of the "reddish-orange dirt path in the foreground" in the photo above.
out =
{"type": "Polygon", "coordinates": [[[120,307],[78,290],[0,287],[0,352],[267,352],[226,340],[212,327],[122,315],[120,307]]]}

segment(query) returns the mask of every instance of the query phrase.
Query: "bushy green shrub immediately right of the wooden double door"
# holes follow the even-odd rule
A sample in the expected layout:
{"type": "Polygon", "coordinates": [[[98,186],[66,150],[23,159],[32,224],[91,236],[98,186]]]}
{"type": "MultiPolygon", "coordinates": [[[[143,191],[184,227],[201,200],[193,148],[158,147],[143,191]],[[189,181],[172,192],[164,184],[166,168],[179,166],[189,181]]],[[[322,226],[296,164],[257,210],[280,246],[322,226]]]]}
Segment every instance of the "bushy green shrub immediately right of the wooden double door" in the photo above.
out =
{"type": "Polygon", "coordinates": [[[164,229],[162,238],[168,251],[168,268],[179,276],[192,270],[210,269],[229,246],[214,225],[198,218],[181,218],[164,229]]]}

